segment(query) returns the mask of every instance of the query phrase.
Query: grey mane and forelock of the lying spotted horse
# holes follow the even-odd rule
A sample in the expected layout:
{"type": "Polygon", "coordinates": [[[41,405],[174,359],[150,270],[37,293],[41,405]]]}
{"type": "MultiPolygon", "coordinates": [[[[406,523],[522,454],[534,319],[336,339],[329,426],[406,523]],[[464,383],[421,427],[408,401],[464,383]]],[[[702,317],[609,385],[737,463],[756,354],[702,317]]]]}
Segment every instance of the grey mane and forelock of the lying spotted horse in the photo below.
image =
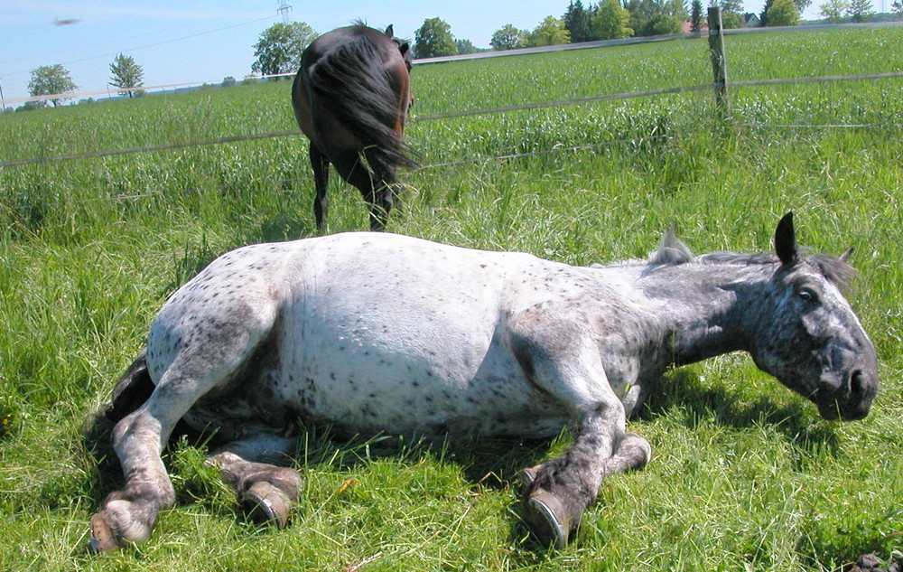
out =
{"type": "MultiPolygon", "coordinates": [[[[856,277],[856,269],[843,258],[828,254],[809,254],[806,248],[801,248],[801,255],[805,261],[818,268],[824,278],[837,286],[842,291],[850,289],[852,279],[856,277]]],[[[780,260],[772,252],[760,252],[756,254],[743,254],[730,251],[710,252],[700,256],[694,256],[693,252],[683,241],[675,236],[674,227],[667,230],[658,244],[658,248],[649,254],[645,264],[648,267],[679,266],[688,262],[700,264],[725,264],[738,266],[752,266],[764,264],[779,264],[780,260]]]]}

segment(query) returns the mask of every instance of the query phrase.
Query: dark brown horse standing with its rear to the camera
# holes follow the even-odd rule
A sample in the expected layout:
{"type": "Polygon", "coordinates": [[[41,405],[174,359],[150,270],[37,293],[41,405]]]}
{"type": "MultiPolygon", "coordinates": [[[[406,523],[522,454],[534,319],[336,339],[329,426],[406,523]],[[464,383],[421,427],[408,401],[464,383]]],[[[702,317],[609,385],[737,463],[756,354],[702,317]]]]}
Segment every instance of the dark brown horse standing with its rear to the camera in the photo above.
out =
{"type": "Polygon", "coordinates": [[[392,26],[385,33],[362,23],[338,28],[304,50],[292,105],[311,140],[318,230],[329,210],[330,163],[369,203],[370,229],[385,228],[396,168],[416,166],[402,143],[414,100],[410,70],[410,45],[393,37],[392,26]]]}

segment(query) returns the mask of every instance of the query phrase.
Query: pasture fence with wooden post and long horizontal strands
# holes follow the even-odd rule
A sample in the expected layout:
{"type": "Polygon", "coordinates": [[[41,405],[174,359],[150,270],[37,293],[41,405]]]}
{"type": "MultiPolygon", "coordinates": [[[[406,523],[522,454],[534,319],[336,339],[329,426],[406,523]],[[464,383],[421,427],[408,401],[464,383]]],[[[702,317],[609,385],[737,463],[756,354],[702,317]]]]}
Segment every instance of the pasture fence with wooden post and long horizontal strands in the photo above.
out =
{"type": "MultiPolygon", "coordinates": [[[[883,27],[883,26],[900,26],[903,25],[903,22],[891,22],[891,23],[871,23],[871,24],[845,24],[845,26],[849,27],[883,27]]],[[[837,25],[831,26],[805,26],[805,29],[823,29],[823,28],[837,28],[837,25]]],[[[794,29],[800,29],[800,26],[796,26],[794,29]]],[[[423,121],[432,121],[438,119],[448,119],[455,117],[472,117],[479,115],[489,115],[495,113],[507,113],[511,111],[520,111],[520,110],[530,110],[530,109],[541,109],[541,108],[554,108],[554,107],[562,107],[568,105],[579,105],[586,103],[594,103],[601,101],[614,101],[614,100],[622,100],[622,99],[631,99],[631,98],[647,98],[652,96],[659,95],[667,95],[667,94],[677,94],[677,93],[687,93],[694,91],[706,91],[712,90],[715,94],[715,99],[722,110],[726,110],[729,108],[729,94],[731,88],[741,88],[741,87],[753,87],[753,86],[768,86],[768,85],[799,85],[805,83],[820,83],[820,82],[837,82],[837,81],[858,81],[858,80],[881,80],[881,79],[890,79],[890,78],[903,78],[903,71],[887,71],[887,72],[878,72],[878,73],[866,73],[866,74],[851,74],[851,75],[832,75],[832,76],[819,76],[819,77],[809,77],[809,78],[791,78],[791,79],[777,79],[777,80],[748,80],[748,81],[729,81],[727,74],[727,58],[724,52],[724,36],[730,35],[732,33],[763,33],[763,32],[773,32],[773,31],[787,31],[787,28],[751,28],[751,29],[740,29],[740,30],[725,30],[721,26],[721,9],[718,7],[709,8],[709,44],[710,50],[712,52],[712,74],[713,81],[710,84],[703,85],[695,85],[695,86],[684,86],[678,88],[666,88],[666,89],[648,89],[643,91],[633,91],[629,93],[615,93],[615,94],[606,94],[600,96],[593,96],[588,98],[570,98],[570,99],[558,99],[554,101],[541,101],[541,102],[532,102],[532,103],[524,103],[512,106],[502,106],[497,108],[478,108],[478,109],[464,109],[461,111],[452,111],[448,113],[435,113],[428,115],[415,116],[414,121],[423,122],[423,121]]],[[[645,43],[645,42],[664,42],[671,41],[680,38],[684,38],[684,34],[678,34],[674,36],[657,36],[654,38],[647,39],[638,39],[638,38],[628,38],[626,40],[613,40],[613,41],[604,41],[604,42],[585,42],[584,44],[565,44],[563,46],[552,46],[552,50],[549,50],[548,47],[545,49],[536,49],[536,48],[526,48],[522,50],[511,50],[507,52],[487,52],[485,54],[470,54],[468,56],[450,56],[447,58],[431,58],[430,60],[420,60],[415,61],[418,65],[424,65],[429,63],[439,63],[445,61],[461,61],[474,59],[479,57],[501,57],[501,56],[512,56],[518,54],[525,53],[537,53],[537,52],[549,52],[549,51],[562,51],[562,50],[580,50],[587,48],[599,48],[605,46],[612,45],[625,45],[631,43],[645,43]],[[489,54],[493,55],[489,55],[489,54]]],[[[293,74],[291,74],[293,75],[293,74]]],[[[794,127],[805,127],[805,126],[794,126],[794,127]]],[[[872,127],[866,125],[848,125],[848,126],[824,126],[824,127],[872,127]]],[[[898,127],[903,127],[903,124],[900,124],[898,127]]],[[[177,149],[183,147],[193,147],[193,146],[201,146],[201,145],[221,145],[227,143],[236,143],[241,141],[251,141],[255,139],[268,139],[274,137],[284,137],[284,136],[299,136],[301,135],[300,129],[290,129],[284,131],[275,131],[269,133],[258,133],[258,134],[248,134],[248,135],[238,135],[238,136],[224,136],[224,137],[215,137],[210,139],[202,139],[199,141],[191,141],[184,143],[164,143],[159,145],[142,145],[137,147],[128,147],[124,149],[110,149],[104,151],[93,151],[88,153],[79,153],[79,154],[70,154],[70,155],[49,155],[45,157],[33,157],[29,159],[19,159],[19,160],[11,160],[11,161],[0,161],[0,168],[4,167],[12,167],[12,166],[20,166],[20,165],[28,165],[28,164],[42,164],[42,163],[52,163],[59,161],[68,161],[75,159],[87,159],[94,157],[104,157],[104,156],[113,156],[113,155],[128,155],[133,153],[148,153],[155,151],[163,151],[168,149],[177,149]]],[[[520,155],[506,155],[505,157],[499,158],[508,158],[511,156],[520,156],[520,155]]],[[[456,162],[457,163],[457,162],[456,162]]],[[[437,165],[427,165],[427,166],[437,166],[437,165]]]]}

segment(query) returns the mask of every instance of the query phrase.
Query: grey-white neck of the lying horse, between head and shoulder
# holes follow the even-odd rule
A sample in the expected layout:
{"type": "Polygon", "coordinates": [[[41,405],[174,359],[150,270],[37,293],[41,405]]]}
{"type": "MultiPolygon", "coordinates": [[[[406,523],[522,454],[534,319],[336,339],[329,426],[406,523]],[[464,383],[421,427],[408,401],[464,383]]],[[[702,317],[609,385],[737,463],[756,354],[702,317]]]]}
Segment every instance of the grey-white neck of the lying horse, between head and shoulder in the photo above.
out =
{"type": "Polygon", "coordinates": [[[676,365],[754,346],[759,310],[768,297],[773,265],[691,262],[656,267],[638,281],[662,302],[661,347],[676,365]]]}

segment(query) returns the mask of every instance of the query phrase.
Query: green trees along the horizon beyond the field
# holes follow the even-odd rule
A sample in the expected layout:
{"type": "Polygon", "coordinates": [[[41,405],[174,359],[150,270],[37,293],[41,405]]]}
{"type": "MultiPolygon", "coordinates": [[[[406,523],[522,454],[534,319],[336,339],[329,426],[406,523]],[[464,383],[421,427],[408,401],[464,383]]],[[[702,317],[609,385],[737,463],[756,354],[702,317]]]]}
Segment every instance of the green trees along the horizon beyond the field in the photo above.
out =
{"type": "MultiPolygon", "coordinates": [[[[766,0],[760,14],[743,13],[742,0],[710,0],[712,5],[721,7],[722,25],[738,28],[750,25],[787,26],[800,23],[803,13],[812,0],[766,0]]],[[[821,15],[831,22],[849,20],[866,22],[874,14],[872,0],[825,0],[819,5],[821,15]]],[[[891,9],[896,17],[903,17],[903,0],[893,0],[891,9]]],[[[549,46],[563,43],[613,40],[631,36],[652,36],[682,33],[684,23],[689,23],[692,32],[703,29],[702,0],[600,0],[598,3],[583,5],[582,0],[571,0],[561,17],[546,16],[533,30],[520,30],[507,23],[492,34],[489,45],[492,50],[513,50],[516,48],[549,46]]],[[[259,73],[278,80],[282,74],[291,74],[301,66],[301,55],[319,34],[303,22],[275,23],[260,34],[254,48],[255,61],[251,64],[252,74],[245,76],[243,83],[258,80],[259,73]]],[[[481,51],[470,40],[456,38],[452,26],[442,18],[427,18],[414,32],[414,57],[432,58],[481,51]]],[[[122,97],[140,97],[144,90],[144,69],[131,56],[116,55],[109,64],[108,86],[117,89],[122,97]]],[[[72,81],[70,72],[61,64],[41,66],[32,70],[28,84],[33,96],[63,94],[51,99],[57,106],[67,99],[64,94],[79,89],[72,81]]],[[[237,81],[228,76],[220,84],[222,87],[235,85],[237,81]]],[[[203,86],[209,87],[209,86],[203,86]]],[[[92,98],[81,102],[91,102],[92,98]]],[[[30,101],[19,108],[27,110],[42,108],[46,101],[30,101]]],[[[2,111],[12,111],[6,108],[2,111]]]]}

